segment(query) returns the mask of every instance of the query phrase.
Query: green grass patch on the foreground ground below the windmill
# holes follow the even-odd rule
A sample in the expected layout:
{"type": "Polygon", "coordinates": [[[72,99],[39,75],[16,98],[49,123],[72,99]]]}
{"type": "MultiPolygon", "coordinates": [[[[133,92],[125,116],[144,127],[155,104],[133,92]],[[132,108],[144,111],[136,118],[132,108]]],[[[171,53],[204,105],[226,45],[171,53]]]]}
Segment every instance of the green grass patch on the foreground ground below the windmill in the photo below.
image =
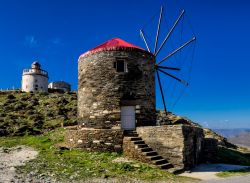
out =
{"type": "Polygon", "coordinates": [[[64,130],[56,130],[46,135],[1,137],[0,146],[31,146],[39,151],[35,160],[19,167],[20,173],[35,172],[56,178],[58,181],[85,180],[90,178],[132,178],[140,180],[168,180],[183,182],[193,179],[178,177],[166,171],[140,162],[114,163],[112,160],[122,157],[118,153],[86,152],[81,150],[60,150],[54,145],[63,141],[64,130]]]}

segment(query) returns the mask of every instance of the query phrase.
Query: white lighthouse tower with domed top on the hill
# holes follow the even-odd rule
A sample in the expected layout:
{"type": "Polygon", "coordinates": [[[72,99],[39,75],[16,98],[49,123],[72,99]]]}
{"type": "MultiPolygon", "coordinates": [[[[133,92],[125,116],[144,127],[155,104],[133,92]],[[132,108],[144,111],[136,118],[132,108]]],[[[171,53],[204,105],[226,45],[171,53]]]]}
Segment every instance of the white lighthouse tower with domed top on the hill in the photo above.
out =
{"type": "Polygon", "coordinates": [[[24,69],[22,91],[48,92],[48,72],[41,69],[39,62],[32,63],[31,68],[24,69]]]}

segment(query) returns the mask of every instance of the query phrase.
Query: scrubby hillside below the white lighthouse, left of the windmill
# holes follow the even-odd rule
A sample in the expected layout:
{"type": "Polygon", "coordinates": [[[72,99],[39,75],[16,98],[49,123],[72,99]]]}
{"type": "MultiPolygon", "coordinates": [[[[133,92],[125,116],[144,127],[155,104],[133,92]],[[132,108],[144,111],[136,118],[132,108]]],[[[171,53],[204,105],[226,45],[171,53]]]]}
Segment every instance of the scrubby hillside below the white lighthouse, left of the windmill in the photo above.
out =
{"type": "Polygon", "coordinates": [[[40,134],[76,124],[76,93],[0,92],[0,136],[40,134]]]}

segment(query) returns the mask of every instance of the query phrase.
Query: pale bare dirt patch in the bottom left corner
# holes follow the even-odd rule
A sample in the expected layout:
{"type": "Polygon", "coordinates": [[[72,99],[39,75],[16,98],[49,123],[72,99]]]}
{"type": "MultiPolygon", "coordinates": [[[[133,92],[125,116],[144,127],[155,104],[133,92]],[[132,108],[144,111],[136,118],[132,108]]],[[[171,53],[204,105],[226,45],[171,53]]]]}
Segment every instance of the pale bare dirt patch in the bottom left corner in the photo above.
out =
{"type": "Polygon", "coordinates": [[[17,146],[13,148],[0,148],[0,183],[17,182],[20,177],[16,174],[17,166],[35,159],[38,152],[30,147],[17,146]]]}

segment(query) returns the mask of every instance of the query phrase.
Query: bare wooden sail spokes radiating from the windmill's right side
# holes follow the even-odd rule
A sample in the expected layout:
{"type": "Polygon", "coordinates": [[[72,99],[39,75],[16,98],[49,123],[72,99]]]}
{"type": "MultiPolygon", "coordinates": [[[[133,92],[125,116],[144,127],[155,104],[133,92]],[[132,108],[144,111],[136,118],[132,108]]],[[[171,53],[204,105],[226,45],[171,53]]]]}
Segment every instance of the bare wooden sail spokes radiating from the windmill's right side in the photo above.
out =
{"type": "Polygon", "coordinates": [[[173,34],[176,27],[180,23],[180,21],[183,18],[184,14],[185,14],[185,10],[182,10],[180,15],[178,16],[178,18],[175,20],[174,24],[172,25],[172,27],[170,28],[170,30],[168,31],[168,33],[164,37],[164,40],[162,41],[160,46],[158,46],[159,35],[160,35],[160,32],[161,32],[160,30],[161,30],[161,24],[162,24],[162,17],[163,17],[163,6],[161,6],[153,50],[151,50],[150,47],[149,47],[148,40],[146,39],[146,36],[144,34],[143,29],[140,30],[140,35],[141,35],[141,38],[142,38],[143,42],[145,43],[147,51],[152,53],[156,58],[155,74],[156,74],[156,79],[157,79],[158,84],[159,84],[161,99],[162,99],[163,106],[164,106],[164,111],[165,111],[166,114],[167,114],[166,101],[165,101],[165,96],[164,96],[162,82],[161,82],[161,78],[160,78],[159,73],[178,81],[179,83],[181,83],[184,86],[188,86],[189,83],[187,81],[185,81],[184,79],[180,79],[180,78],[176,77],[175,75],[170,74],[168,72],[170,70],[181,72],[180,68],[165,66],[165,65],[163,66],[162,64],[164,62],[168,61],[171,57],[173,57],[177,53],[181,52],[184,48],[188,47],[190,44],[195,43],[196,37],[193,36],[191,39],[189,38],[189,40],[186,40],[186,42],[182,43],[179,47],[175,48],[173,51],[171,51],[168,55],[164,56],[163,58],[159,58],[159,53],[161,52],[162,48],[165,46],[167,41],[171,38],[171,35],[173,34]]]}

